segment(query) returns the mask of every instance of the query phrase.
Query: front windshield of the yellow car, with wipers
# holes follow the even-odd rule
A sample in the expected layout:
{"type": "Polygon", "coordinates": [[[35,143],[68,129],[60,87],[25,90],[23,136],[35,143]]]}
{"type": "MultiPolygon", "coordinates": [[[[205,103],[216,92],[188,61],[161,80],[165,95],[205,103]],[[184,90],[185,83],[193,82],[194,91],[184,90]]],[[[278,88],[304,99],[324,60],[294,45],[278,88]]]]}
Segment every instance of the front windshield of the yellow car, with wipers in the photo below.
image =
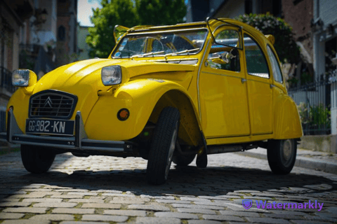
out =
{"type": "Polygon", "coordinates": [[[207,29],[129,34],[119,41],[113,58],[193,55],[203,47],[207,29]]]}

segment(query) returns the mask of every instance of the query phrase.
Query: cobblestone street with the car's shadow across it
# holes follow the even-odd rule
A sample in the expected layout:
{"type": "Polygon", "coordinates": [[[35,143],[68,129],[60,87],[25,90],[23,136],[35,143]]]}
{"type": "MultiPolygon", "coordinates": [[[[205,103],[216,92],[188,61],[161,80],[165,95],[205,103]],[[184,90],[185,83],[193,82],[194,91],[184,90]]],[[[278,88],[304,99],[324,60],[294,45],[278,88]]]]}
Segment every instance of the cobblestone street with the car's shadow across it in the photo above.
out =
{"type": "Polygon", "coordinates": [[[1,155],[0,223],[337,223],[335,174],[295,167],[274,175],[267,160],[226,153],[210,155],[206,169],[172,165],[166,184],[150,186],[146,165],[66,153],[37,175],[25,171],[20,153],[1,155]],[[242,206],[247,199],[250,209],[242,206]],[[258,209],[256,200],[284,208],[258,209]],[[315,201],[321,211],[308,209],[315,201]]]}

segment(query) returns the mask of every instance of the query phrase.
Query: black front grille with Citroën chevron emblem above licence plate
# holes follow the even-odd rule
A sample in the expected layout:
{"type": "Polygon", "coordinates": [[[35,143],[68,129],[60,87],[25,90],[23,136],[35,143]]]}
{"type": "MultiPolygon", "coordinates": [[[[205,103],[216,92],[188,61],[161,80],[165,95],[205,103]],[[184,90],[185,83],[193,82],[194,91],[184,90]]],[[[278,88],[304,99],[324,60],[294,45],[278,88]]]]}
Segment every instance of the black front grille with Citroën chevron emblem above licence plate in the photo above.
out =
{"type": "Polygon", "coordinates": [[[32,95],[29,118],[69,119],[74,113],[77,96],[57,90],[44,90],[32,95]]]}

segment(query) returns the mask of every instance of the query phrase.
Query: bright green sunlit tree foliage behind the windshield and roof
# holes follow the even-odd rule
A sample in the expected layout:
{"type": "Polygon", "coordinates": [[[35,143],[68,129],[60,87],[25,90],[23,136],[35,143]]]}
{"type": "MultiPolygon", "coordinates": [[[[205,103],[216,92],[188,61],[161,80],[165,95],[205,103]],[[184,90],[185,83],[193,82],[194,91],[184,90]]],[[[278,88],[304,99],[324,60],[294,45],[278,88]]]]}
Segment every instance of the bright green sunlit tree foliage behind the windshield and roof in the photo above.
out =
{"type": "Polygon", "coordinates": [[[114,45],[114,26],[173,25],[183,22],[184,0],[102,0],[102,8],[93,9],[86,43],[90,57],[107,57],[114,45]]]}

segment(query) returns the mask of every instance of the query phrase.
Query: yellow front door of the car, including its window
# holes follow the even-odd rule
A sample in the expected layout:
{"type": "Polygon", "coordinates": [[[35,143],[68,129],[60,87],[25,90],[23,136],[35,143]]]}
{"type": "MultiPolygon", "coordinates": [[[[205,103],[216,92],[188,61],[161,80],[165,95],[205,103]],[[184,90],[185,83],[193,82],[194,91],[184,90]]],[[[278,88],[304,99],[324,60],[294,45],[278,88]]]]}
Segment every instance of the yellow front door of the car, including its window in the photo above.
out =
{"type": "Polygon", "coordinates": [[[199,103],[204,134],[207,139],[246,136],[250,130],[246,75],[242,69],[244,52],[234,48],[242,43],[241,32],[225,27],[215,36],[216,42],[227,47],[213,42],[201,64],[199,103]],[[220,56],[230,52],[237,55],[223,62],[220,56]]]}

